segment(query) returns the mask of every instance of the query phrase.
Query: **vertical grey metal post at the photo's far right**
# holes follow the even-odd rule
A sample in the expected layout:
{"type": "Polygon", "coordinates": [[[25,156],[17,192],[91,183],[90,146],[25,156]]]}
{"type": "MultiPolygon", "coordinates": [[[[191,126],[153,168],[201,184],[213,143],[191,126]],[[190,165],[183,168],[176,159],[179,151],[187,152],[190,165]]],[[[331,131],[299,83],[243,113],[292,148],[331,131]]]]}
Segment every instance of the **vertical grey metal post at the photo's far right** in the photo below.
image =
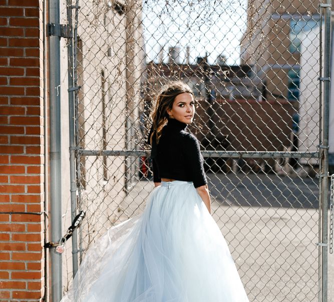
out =
{"type": "MultiPolygon", "coordinates": [[[[322,302],[327,302],[327,269],[328,269],[328,130],[329,130],[329,84],[330,84],[330,6],[331,0],[326,0],[324,4],[324,69],[323,69],[323,105],[322,105],[322,145],[319,146],[321,152],[322,171],[322,278],[321,294],[322,302]]],[[[320,8],[321,9],[321,8],[320,8]]]]}

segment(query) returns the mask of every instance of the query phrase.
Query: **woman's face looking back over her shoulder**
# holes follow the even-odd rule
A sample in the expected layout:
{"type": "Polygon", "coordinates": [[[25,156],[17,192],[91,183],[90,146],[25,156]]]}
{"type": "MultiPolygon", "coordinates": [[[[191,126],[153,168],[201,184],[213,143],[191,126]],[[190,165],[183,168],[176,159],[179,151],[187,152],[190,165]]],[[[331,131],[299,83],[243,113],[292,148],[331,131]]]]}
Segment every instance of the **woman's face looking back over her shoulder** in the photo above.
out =
{"type": "Polygon", "coordinates": [[[195,101],[191,93],[178,94],[173,102],[171,110],[167,110],[170,118],[175,118],[184,123],[191,123],[195,114],[195,101]]]}

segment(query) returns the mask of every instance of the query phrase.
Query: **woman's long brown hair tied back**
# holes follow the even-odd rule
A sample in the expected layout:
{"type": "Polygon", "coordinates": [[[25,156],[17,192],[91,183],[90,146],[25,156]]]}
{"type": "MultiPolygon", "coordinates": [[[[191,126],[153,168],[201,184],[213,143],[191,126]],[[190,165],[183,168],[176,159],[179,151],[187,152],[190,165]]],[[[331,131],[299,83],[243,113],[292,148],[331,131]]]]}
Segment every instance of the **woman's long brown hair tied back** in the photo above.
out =
{"type": "Polygon", "coordinates": [[[150,114],[153,127],[153,132],[150,137],[151,144],[153,135],[156,137],[156,142],[159,142],[161,130],[167,123],[167,110],[172,109],[175,97],[184,92],[191,93],[194,96],[191,88],[182,81],[170,81],[161,88],[150,114]]]}

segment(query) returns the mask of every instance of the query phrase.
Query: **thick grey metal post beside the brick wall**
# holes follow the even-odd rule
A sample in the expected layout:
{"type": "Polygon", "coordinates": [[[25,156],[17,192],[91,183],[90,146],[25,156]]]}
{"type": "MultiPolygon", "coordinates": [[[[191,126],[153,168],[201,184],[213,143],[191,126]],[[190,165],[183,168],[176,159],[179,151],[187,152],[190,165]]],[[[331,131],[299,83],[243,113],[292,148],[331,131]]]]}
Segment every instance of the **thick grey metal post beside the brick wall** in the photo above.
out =
{"type": "MultiPolygon", "coordinates": [[[[59,24],[59,0],[49,0],[49,23],[59,24]]],[[[50,86],[50,240],[62,237],[60,37],[49,36],[50,86]]],[[[62,255],[50,249],[52,301],[62,297],[62,255]]]]}

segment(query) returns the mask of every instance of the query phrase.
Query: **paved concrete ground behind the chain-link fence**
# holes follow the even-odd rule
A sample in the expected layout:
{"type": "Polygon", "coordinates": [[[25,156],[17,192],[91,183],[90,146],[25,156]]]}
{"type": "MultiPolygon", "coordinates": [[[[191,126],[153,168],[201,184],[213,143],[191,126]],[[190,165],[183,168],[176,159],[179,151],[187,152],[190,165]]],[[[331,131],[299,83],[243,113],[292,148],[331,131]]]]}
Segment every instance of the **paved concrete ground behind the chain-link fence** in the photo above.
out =
{"type": "MultiPolygon", "coordinates": [[[[224,235],[250,301],[317,301],[316,178],[207,174],[212,216],[224,235]]],[[[140,181],[124,200],[139,213],[153,188],[140,181]]],[[[334,254],[328,254],[328,301],[334,302],[334,254]]]]}

